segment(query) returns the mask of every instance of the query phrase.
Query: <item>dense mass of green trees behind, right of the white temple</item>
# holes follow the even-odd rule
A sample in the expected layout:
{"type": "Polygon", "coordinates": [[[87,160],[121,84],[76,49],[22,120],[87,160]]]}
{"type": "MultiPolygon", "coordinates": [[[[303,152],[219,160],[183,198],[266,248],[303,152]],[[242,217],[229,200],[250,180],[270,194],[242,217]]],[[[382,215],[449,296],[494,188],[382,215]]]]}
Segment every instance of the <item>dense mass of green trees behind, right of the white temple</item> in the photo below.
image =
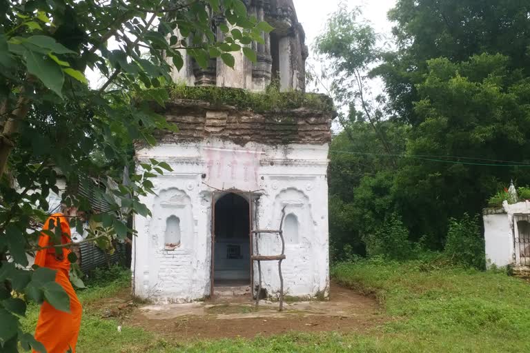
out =
{"type": "Polygon", "coordinates": [[[449,251],[448,234],[453,250],[471,237],[462,244],[479,256],[474,215],[511,179],[530,183],[530,3],[398,0],[388,16],[390,50],[346,8],[315,45],[348,108],[331,143],[332,256],[410,255],[380,246],[394,238],[449,251]]]}

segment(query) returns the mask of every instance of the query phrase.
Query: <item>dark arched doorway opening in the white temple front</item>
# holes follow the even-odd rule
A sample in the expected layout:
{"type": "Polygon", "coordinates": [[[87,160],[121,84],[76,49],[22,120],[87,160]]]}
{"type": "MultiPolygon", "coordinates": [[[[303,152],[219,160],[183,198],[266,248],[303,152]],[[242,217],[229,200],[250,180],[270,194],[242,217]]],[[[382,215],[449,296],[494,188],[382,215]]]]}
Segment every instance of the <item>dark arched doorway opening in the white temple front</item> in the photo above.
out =
{"type": "Polygon", "coordinates": [[[228,193],[215,202],[213,285],[251,283],[250,219],[248,201],[228,193]]]}

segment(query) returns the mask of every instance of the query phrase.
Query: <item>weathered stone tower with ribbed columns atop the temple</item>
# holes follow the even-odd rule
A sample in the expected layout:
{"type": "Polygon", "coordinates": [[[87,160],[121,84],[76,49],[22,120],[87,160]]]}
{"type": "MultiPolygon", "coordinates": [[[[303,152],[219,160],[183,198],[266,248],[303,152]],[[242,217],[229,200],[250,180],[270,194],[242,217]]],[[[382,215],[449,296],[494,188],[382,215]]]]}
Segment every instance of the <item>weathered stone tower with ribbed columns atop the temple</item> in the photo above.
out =
{"type": "MultiPolygon", "coordinates": [[[[183,55],[184,67],[173,70],[173,80],[187,85],[233,87],[252,91],[264,91],[272,81],[277,81],[282,91],[304,91],[308,50],[293,0],[253,0],[245,3],[248,14],[257,17],[258,21],[267,21],[275,28],[270,34],[262,33],[264,44],[249,45],[257,54],[257,62],[249,61],[240,50],[230,53],[235,59],[233,69],[228,68],[220,58],[210,59],[208,68],[200,68],[191,57],[183,55]]],[[[217,28],[217,40],[223,40],[226,35],[217,27],[223,21],[225,19],[222,17],[216,17],[212,23],[217,28]]],[[[168,63],[173,65],[171,61],[168,63]]]]}

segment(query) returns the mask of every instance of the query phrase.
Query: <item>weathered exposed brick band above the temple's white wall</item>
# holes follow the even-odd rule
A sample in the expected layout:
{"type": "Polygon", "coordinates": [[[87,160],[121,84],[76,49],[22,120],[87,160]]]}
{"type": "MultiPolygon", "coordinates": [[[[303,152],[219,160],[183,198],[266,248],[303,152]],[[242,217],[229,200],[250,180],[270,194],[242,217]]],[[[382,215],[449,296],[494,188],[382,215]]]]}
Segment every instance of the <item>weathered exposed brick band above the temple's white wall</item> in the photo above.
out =
{"type": "Polygon", "coordinates": [[[253,141],[268,145],[331,141],[331,112],[307,108],[257,114],[230,106],[213,106],[202,101],[178,99],[159,111],[177,124],[179,132],[160,131],[160,142],[199,141],[217,137],[239,145],[253,141]]]}

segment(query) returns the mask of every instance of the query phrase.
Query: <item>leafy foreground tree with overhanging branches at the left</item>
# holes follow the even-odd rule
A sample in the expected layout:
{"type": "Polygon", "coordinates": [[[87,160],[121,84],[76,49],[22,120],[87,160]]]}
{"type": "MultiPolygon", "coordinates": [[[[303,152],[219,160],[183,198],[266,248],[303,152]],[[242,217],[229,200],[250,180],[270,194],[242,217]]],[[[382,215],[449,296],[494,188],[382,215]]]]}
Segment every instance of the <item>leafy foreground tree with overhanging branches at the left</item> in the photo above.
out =
{"type": "MultiPolygon", "coordinates": [[[[130,175],[132,183],[121,180],[133,141],[153,144],[155,129],[176,128],[150,109],[150,102],[164,105],[168,99],[168,62],[179,70],[184,51],[202,67],[213,57],[233,67],[230,52],[263,42],[262,32],[271,29],[248,17],[241,0],[0,0],[2,352],[17,352],[17,342],[25,350],[41,349],[20,330],[26,301],[19,294],[37,303],[65,305],[60,290],[48,290],[54,276],[24,268],[26,255],[37,250],[39,231],[32,228],[46,216],[46,197],[59,192],[57,169],[68,181],[85,185],[91,175],[106,170],[112,194],[95,192],[110,203],[111,212],[95,218],[109,234],[123,238],[132,230],[112,214],[149,214],[137,195],[152,192],[149,178],[170,170],[153,160],[142,165],[141,174],[130,175]],[[222,41],[212,26],[217,15],[228,21],[221,25],[222,41]],[[108,46],[110,40],[115,49],[108,46]],[[89,87],[86,68],[104,75],[101,87],[89,87]]],[[[243,52],[255,58],[252,50],[243,52]]],[[[63,201],[89,207],[68,189],[63,201]]],[[[81,225],[72,220],[76,223],[81,225]]],[[[90,239],[96,238],[92,234],[90,239]]]]}

